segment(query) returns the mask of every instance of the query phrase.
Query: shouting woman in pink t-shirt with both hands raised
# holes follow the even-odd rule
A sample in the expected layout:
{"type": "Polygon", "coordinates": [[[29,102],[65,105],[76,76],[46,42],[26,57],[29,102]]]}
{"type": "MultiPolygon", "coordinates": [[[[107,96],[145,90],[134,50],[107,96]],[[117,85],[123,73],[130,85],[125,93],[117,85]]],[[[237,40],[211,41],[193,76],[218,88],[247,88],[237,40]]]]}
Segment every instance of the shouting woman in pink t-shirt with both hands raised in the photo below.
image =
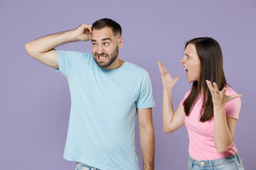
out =
{"type": "Polygon", "coordinates": [[[240,111],[240,97],[228,86],[220,45],[213,38],[194,38],[186,43],[181,60],[193,82],[174,112],[172,79],[158,61],[163,84],[163,129],[174,132],[184,124],[189,137],[188,169],[243,169],[233,143],[240,111]]]}

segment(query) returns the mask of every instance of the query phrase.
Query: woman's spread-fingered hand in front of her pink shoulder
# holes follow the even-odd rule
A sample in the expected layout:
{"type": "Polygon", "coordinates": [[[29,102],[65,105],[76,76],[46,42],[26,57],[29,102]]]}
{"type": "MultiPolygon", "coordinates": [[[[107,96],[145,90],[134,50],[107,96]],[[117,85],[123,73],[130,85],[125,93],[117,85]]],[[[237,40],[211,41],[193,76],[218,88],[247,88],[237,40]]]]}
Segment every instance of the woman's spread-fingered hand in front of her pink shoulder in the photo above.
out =
{"type": "Polygon", "coordinates": [[[225,91],[227,89],[224,87],[222,91],[219,91],[218,86],[215,82],[213,82],[213,85],[212,85],[210,81],[206,80],[206,84],[208,85],[210,94],[213,98],[213,106],[224,107],[225,103],[228,103],[228,101],[231,101],[234,98],[242,97],[242,94],[234,94],[231,96],[227,96],[225,94],[225,91]]]}

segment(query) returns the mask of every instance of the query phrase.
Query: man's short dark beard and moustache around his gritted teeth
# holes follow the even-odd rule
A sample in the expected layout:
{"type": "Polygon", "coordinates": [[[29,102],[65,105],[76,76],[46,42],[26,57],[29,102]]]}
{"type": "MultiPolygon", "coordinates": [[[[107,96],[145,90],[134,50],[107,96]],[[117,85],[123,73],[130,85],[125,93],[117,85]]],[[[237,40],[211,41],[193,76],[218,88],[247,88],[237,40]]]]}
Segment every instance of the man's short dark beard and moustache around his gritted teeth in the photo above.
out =
{"type": "Polygon", "coordinates": [[[95,53],[93,53],[93,55],[94,55],[93,58],[94,58],[95,62],[97,63],[97,65],[99,67],[105,68],[105,67],[109,67],[115,60],[117,60],[118,53],[119,53],[119,49],[118,49],[118,45],[117,45],[117,47],[115,48],[114,52],[112,52],[110,55],[105,53],[105,52],[103,52],[101,54],[95,52],[95,53]],[[107,62],[99,62],[99,61],[97,61],[97,55],[99,55],[99,56],[102,56],[102,55],[103,56],[107,56],[108,61],[107,62]]]}

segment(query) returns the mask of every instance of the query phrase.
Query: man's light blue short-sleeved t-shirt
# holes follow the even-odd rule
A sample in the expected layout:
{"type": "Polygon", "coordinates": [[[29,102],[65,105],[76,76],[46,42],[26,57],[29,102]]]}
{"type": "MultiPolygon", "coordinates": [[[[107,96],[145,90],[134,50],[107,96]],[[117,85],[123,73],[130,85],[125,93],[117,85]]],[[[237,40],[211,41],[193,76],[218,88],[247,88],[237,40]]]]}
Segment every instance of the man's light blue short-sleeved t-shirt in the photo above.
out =
{"type": "Polygon", "coordinates": [[[129,62],[98,67],[90,53],[57,53],[71,97],[64,158],[103,170],[139,169],[134,125],[137,108],[155,106],[149,74],[129,62]]]}

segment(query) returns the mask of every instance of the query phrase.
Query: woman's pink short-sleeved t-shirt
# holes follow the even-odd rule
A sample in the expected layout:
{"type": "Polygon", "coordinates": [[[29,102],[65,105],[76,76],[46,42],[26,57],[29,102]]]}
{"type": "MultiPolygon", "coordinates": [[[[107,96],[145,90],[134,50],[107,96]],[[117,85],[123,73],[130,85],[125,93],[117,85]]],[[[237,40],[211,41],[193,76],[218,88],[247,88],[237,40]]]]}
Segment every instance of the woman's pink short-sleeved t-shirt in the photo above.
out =
{"type": "MultiPolygon", "coordinates": [[[[190,91],[188,91],[181,101],[180,105],[183,106],[183,101],[187,98],[190,91]]],[[[236,94],[230,86],[227,86],[226,94],[228,96],[236,94]]],[[[213,160],[230,157],[238,152],[234,143],[224,153],[219,153],[214,144],[214,118],[204,123],[200,122],[200,111],[203,103],[203,95],[198,98],[190,115],[185,118],[185,125],[188,130],[189,146],[188,153],[191,158],[202,160],[213,160]]],[[[238,119],[241,108],[241,99],[235,98],[225,104],[225,114],[227,117],[238,119]]]]}

